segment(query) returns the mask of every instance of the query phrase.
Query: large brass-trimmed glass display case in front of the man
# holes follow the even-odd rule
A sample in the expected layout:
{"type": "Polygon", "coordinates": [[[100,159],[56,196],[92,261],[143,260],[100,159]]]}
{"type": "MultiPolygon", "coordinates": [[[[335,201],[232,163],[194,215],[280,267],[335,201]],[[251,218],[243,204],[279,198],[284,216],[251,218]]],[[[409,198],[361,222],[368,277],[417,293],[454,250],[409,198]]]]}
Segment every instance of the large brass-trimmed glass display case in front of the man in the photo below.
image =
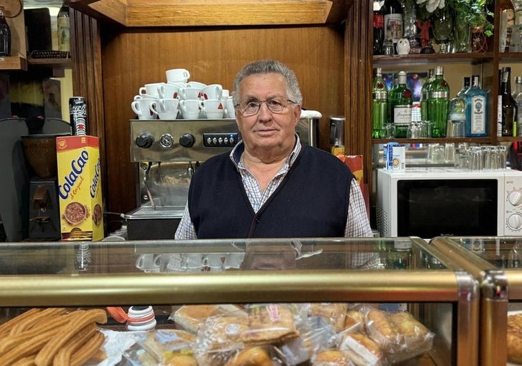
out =
{"type": "MultiPolygon", "coordinates": [[[[0,334],[2,323],[32,307],[121,307],[130,314],[131,308],[152,306],[156,329],[185,329],[176,321],[182,307],[233,306],[250,321],[261,307],[273,310],[274,305],[292,309],[295,345],[297,340],[307,342],[304,324],[310,325],[313,309],[324,312],[330,305],[341,305],[343,319],[350,310],[366,315],[364,334],[393,363],[479,364],[479,283],[421,238],[2,243],[0,287],[0,334]],[[401,335],[398,351],[371,334],[377,321],[368,322],[370,312],[391,321],[393,314],[403,311],[413,316],[410,321],[421,323],[415,323],[415,329],[424,325],[430,336],[429,343],[422,338],[421,347],[415,343],[417,352],[412,352],[415,336],[401,335]]],[[[333,326],[328,323],[331,318],[324,319],[323,333],[333,326]]],[[[107,323],[100,327],[129,333],[128,323],[126,328],[118,320],[108,311],[107,323]]],[[[204,326],[205,322],[199,332],[204,326]]],[[[198,329],[192,329],[196,343],[198,329]]],[[[314,352],[342,347],[337,341],[350,332],[345,321],[328,338],[335,339],[335,345],[313,343],[299,363],[289,361],[287,340],[270,347],[280,352],[281,365],[312,365],[314,352]]],[[[103,347],[110,347],[105,343],[103,347]]],[[[1,349],[0,341],[0,360],[1,349]]]]}

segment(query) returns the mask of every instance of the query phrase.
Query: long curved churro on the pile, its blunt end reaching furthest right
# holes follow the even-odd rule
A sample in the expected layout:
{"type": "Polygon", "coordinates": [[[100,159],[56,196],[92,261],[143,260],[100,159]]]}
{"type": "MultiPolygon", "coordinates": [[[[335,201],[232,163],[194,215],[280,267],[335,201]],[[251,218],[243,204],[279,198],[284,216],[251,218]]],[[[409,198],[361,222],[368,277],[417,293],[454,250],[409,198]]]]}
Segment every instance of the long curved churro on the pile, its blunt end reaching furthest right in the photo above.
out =
{"type": "MultiPolygon", "coordinates": [[[[78,312],[81,312],[81,310],[78,312]]],[[[37,366],[50,365],[54,356],[56,356],[67,340],[78,333],[80,329],[94,322],[107,323],[107,313],[105,310],[90,309],[83,312],[83,314],[79,314],[79,316],[75,317],[74,320],[70,321],[70,323],[61,329],[59,336],[53,337],[40,349],[40,352],[38,352],[36,358],[34,358],[34,363],[37,366]]]]}

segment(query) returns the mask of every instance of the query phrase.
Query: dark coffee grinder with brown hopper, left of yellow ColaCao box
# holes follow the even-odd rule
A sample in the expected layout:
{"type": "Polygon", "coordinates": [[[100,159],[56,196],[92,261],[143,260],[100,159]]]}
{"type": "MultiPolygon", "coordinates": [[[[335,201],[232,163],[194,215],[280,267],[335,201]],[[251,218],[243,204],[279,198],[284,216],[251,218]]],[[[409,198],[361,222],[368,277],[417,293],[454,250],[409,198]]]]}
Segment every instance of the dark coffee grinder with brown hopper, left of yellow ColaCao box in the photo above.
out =
{"type": "Polygon", "coordinates": [[[21,136],[23,153],[29,163],[29,239],[54,241],[60,238],[56,136],[65,135],[21,136]]]}

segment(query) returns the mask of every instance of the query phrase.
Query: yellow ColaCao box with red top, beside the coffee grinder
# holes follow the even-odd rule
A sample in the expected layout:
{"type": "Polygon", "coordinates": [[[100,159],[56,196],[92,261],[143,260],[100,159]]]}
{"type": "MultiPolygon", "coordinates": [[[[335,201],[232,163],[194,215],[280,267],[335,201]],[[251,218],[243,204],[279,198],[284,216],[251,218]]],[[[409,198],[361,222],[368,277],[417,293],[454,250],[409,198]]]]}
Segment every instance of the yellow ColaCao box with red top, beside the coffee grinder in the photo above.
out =
{"type": "Polygon", "coordinates": [[[103,239],[98,138],[56,137],[60,228],[63,241],[103,239]]]}

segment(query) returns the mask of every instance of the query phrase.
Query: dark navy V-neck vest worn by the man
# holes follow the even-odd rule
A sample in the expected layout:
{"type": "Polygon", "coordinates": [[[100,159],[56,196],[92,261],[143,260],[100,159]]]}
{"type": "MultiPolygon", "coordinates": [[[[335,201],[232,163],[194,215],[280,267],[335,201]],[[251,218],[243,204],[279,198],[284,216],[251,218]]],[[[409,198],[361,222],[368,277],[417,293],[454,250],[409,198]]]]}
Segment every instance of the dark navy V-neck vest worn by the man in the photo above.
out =
{"type": "Polygon", "coordinates": [[[229,153],[192,177],[189,211],[198,238],[344,236],[353,174],[332,154],[302,145],[279,187],[257,214],[229,153]]]}

